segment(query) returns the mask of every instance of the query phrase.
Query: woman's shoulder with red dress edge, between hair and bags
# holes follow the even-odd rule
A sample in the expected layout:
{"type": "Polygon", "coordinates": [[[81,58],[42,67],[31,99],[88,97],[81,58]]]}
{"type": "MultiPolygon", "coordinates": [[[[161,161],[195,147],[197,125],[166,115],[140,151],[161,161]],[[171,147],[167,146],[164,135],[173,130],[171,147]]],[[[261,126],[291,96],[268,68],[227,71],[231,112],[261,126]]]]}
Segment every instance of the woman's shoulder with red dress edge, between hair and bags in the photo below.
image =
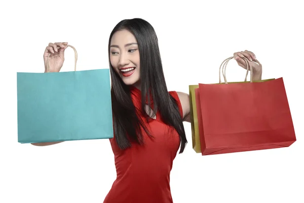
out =
{"type": "Polygon", "coordinates": [[[170,91],[169,92],[179,103],[181,108],[181,114],[183,116],[184,121],[188,121],[188,117],[190,114],[190,103],[189,103],[189,94],[178,91],[170,91]]]}

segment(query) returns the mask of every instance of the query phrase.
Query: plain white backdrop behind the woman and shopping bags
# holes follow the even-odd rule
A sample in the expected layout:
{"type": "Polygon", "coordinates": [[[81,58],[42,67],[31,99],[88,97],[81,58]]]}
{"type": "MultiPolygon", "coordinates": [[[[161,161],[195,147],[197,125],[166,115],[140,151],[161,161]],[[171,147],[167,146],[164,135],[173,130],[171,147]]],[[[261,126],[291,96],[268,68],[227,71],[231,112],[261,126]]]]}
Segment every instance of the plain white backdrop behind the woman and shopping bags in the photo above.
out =
{"type": "MultiPolygon", "coordinates": [[[[297,141],[289,148],[201,156],[188,145],[171,172],[174,203],[304,202],[303,36],[300,1],[6,1],[0,8],[0,202],[102,202],[116,178],[108,140],[47,147],[17,142],[17,72],[44,72],[50,42],[78,51],[78,70],[107,69],[107,43],[123,19],[158,35],[169,90],[217,83],[220,63],[250,50],[262,79],[283,77],[297,141]]],[[[62,71],[73,71],[66,50],[62,71]]],[[[231,61],[227,80],[243,81],[231,61]]],[[[148,174],[147,174],[148,176],[148,174]]]]}

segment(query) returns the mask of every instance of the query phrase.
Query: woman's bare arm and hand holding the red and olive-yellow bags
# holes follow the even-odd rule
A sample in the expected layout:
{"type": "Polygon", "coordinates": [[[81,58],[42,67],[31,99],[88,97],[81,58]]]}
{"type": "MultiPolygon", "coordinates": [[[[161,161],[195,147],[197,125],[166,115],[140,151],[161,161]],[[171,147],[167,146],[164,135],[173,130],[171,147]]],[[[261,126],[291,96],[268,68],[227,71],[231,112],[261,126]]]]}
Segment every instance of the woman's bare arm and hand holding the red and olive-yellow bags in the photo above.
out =
{"type": "MultiPolygon", "coordinates": [[[[241,57],[246,57],[251,66],[252,66],[252,80],[261,80],[262,79],[262,65],[261,63],[256,59],[256,56],[253,52],[251,51],[240,51],[234,53],[235,56],[240,56],[240,57],[235,57],[236,61],[238,64],[243,67],[243,69],[247,70],[245,60],[242,59],[241,57]]],[[[177,92],[181,107],[182,107],[182,112],[183,112],[183,121],[186,122],[191,122],[190,119],[190,97],[189,94],[184,93],[184,92],[177,92]]]]}

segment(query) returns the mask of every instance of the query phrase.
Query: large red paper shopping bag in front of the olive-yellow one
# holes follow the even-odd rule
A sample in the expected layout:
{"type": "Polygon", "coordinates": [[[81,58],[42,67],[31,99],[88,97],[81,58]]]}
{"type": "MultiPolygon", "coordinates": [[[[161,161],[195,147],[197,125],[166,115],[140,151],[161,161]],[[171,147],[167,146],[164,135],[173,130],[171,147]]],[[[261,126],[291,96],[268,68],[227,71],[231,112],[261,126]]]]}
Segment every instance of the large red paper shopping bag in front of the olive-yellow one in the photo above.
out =
{"type": "Polygon", "coordinates": [[[289,147],[296,137],[283,78],[254,83],[251,75],[250,82],[228,84],[232,58],[222,63],[224,84],[196,89],[202,155],[289,147]]]}

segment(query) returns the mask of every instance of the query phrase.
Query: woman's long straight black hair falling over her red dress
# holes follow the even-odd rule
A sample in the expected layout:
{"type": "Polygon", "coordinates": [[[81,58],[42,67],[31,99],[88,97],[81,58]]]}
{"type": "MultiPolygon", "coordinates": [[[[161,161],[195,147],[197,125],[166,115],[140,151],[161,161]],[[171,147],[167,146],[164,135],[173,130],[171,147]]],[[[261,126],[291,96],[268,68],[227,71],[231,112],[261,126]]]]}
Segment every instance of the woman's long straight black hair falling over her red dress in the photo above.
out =
{"type": "MultiPolygon", "coordinates": [[[[121,149],[131,147],[132,142],[143,144],[141,127],[148,133],[131,99],[130,89],[113,70],[110,62],[110,42],[113,34],[120,30],[130,31],[138,44],[140,55],[141,77],[141,110],[145,112],[146,100],[150,107],[150,96],[153,98],[154,112],[159,112],[164,123],[176,129],[180,138],[180,152],[187,143],[177,101],[169,94],[158,45],[156,32],[147,21],[134,18],[120,21],[109,37],[108,56],[111,75],[111,100],[115,139],[121,149]],[[151,94],[151,95],[150,95],[151,94]]],[[[150,113],[148,113],[150,115],[150,113]]],[[[146,115],[146,118],[149,116],[146,115]]]]}

